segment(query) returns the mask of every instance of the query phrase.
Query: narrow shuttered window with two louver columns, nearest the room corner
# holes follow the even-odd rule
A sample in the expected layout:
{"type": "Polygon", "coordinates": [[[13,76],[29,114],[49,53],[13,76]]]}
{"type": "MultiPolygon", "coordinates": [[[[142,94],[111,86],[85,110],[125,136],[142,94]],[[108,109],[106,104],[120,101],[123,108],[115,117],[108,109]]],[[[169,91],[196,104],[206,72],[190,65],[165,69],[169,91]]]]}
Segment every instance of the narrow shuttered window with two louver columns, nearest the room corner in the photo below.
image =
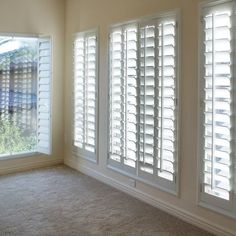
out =
{"type": "Polygon", "coordinates": [[[96,160],[97,33],[74,40],[74,147],[77,155],[96,160]]]}

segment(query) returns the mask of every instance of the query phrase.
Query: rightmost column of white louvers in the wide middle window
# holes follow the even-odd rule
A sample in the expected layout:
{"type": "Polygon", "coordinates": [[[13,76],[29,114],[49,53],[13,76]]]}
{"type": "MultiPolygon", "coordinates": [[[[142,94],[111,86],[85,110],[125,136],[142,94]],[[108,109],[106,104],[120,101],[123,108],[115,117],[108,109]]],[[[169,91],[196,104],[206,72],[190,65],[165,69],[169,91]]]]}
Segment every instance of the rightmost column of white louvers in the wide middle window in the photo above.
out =
{"type": "Polygon", "coordinates": [[[176,22],[158,25],[158,175],[174,181],[177,168],[176,22]]]}

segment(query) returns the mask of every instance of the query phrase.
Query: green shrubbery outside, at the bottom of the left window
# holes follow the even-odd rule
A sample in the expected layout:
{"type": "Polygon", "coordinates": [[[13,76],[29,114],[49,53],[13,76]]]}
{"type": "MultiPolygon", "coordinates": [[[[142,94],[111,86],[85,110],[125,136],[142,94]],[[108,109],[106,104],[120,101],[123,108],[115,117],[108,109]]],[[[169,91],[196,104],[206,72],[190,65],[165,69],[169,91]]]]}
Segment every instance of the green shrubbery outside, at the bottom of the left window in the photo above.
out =
{"type": "Polygon", "coordinates": [[[25,134],[13,119],[0,118],[0,155],[34,151],[35,134],[25,134]]]}

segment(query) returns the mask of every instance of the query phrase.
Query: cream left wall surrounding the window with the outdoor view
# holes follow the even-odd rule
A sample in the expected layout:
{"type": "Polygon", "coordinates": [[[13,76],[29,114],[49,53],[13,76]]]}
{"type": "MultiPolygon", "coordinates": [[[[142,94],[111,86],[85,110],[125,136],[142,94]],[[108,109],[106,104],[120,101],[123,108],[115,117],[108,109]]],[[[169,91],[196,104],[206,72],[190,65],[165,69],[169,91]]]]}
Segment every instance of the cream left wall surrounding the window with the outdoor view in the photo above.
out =
{"type": "Polygon", "coordinates": [[[0,0],[0,32],[49,35],[53,40],[53,153],[51,156],[0,160],[0,174],[61,163],[64,144],[64,1],[0,0]]]}

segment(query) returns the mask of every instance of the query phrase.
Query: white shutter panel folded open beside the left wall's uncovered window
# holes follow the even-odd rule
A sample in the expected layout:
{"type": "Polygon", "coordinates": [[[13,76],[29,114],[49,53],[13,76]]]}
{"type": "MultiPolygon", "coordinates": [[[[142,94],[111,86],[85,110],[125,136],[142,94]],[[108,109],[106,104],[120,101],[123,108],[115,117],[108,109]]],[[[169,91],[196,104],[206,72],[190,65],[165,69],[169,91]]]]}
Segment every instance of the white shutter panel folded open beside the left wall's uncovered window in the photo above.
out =
{"type": "Polygon", "coordinates": [[[51,153],[51,40],[39,38],[38,44],[38,100],[37,100],[37,151],[51,153]]]}

